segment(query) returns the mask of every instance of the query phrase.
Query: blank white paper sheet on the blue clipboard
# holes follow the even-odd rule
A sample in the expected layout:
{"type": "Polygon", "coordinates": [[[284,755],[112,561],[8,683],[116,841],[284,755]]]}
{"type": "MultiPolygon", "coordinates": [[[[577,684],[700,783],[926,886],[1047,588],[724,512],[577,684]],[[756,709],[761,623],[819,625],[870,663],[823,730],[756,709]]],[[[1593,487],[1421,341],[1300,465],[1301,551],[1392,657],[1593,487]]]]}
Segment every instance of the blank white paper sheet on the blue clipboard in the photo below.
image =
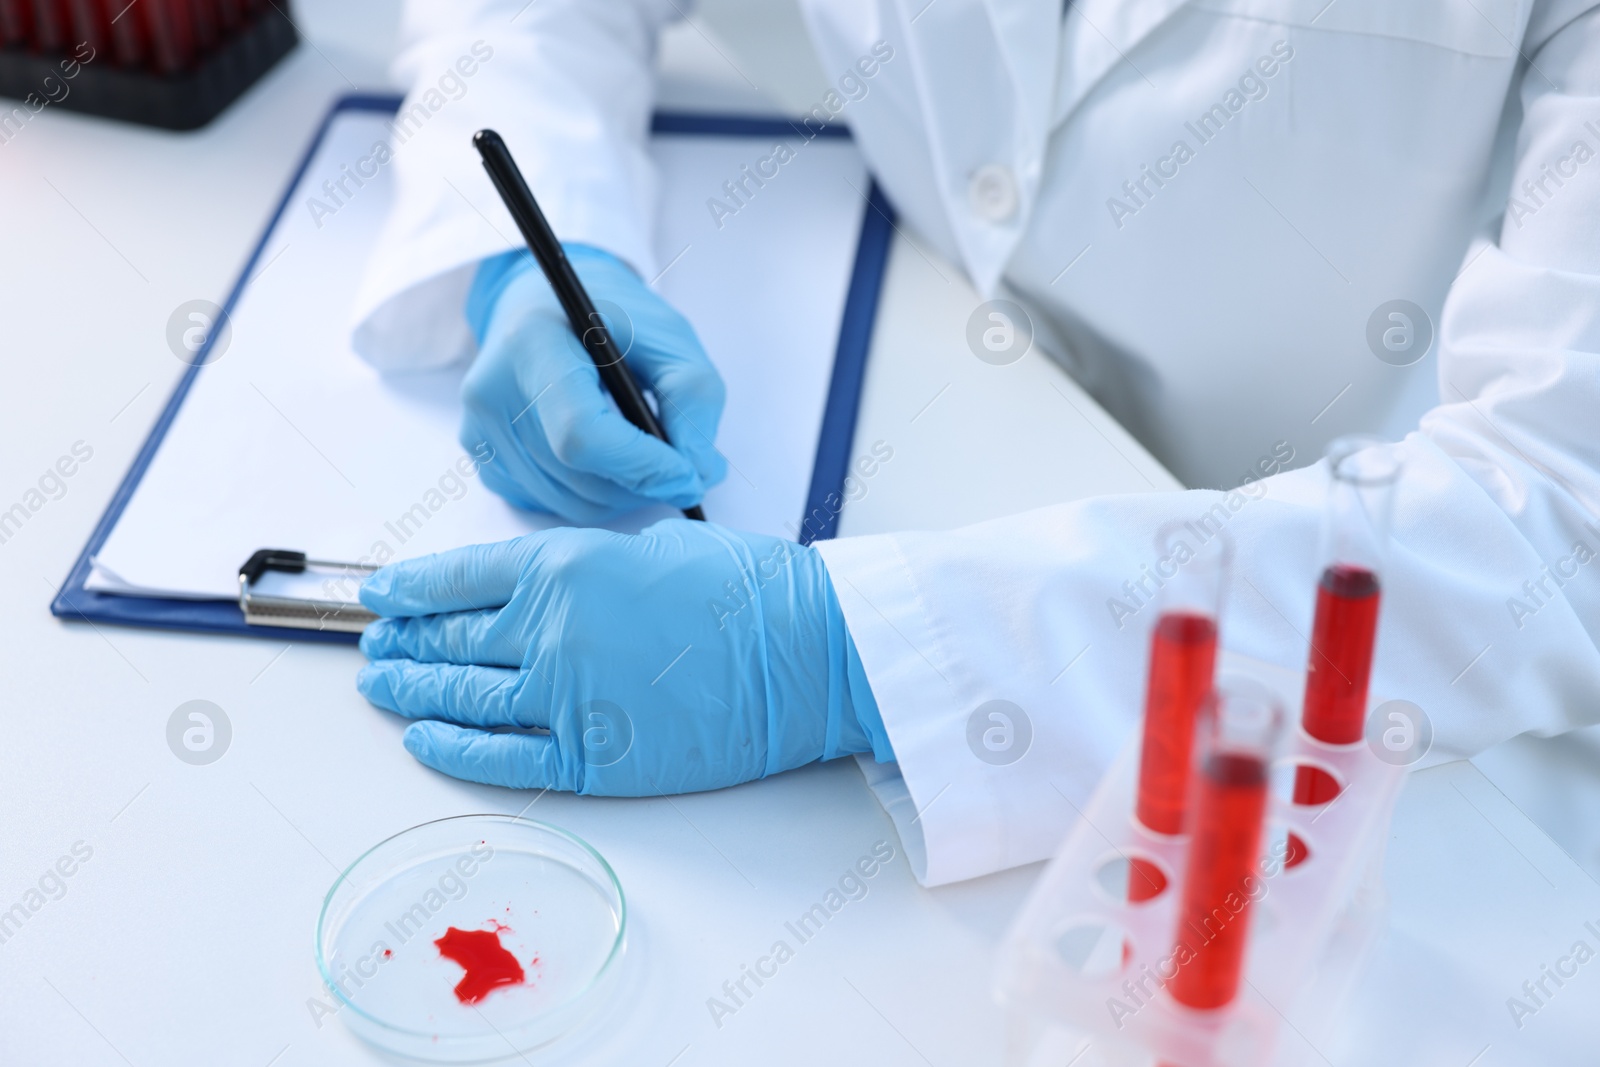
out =
{"type": "MultiPolygon", "coordinates": [[[[349,349],[347,310],[392,176],[368,182],[320,229],[302,202],[382,131],[370,114],[341,115],[330,130],[234,310],[227,350],[200,371],[98,553],[90,589],[234,598],[238,565],[262,547],[354,561],[384,544],[408,558],[550,525],[462,477],[464,368],[384,376],[349,349]]],[[[658,250],[662,264],[677,259],[658,290],[694,325],[728,386],[717,445],[730,472],[707,496],[707,515],[794,536],[867,174],[848,141],[814,141],[718,229],[706,200],[773,144],[654,138],[658,250]]],[[[619,528],[669,514],[646,509],[619,528]]]]}

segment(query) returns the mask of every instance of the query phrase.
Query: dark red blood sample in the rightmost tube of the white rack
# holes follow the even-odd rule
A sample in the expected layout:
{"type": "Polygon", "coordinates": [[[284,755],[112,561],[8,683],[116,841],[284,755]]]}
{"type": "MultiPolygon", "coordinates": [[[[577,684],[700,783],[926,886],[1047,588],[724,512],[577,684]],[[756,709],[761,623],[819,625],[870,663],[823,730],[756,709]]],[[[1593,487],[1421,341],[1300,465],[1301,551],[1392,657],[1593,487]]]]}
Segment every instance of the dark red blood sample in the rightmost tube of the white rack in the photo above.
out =
{"type": "Polygon", "coordinates": [[[1362,739],[1379,600],[1378,576],[1365,566],[1334,563],[1322,573],[1301,718],[1317,741],[1342,745],[1362,739]]]}

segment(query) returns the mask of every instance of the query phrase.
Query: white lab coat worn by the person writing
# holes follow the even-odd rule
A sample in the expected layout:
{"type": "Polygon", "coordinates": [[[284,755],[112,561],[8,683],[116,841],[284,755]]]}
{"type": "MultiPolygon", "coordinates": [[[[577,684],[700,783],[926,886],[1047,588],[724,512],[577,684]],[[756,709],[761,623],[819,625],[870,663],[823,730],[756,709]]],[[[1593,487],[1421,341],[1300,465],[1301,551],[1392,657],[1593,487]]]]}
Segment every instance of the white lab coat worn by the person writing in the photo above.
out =
{"type": "MultiPolygon", "coordinates": [[[[523,3],[408,6],[413,102],[472,42],[494,56],[397,158],[355,334],[381,365],[472,352],[461,296],[515,232],[451,187],[482,181],[475,126],[518,146],[558,234],[656,267],[648,72],[677,5],[523,3]]],[[[1162,522],[1213,509],[1226,643],[1304,662],[1323,474],[1278,469],[1336,434],[1405,435],[1373,688],[1429,713],[1434,758],[1600,718],[1595,0],[802,6],[829,72],[894,50],[842,120],[902,226],[1018,294],[1186,483],[1272,475],[822,545],[923,881],[1050,854],[1131,736],[1152,613],[1112,603],[1142,601],[1162,522]],[[1368,349],[1392,299],[1437,323],[1416,366],[1368,349]],[[968,747],[990,699],[1032,725],[1008,766],[968,747]]]]}

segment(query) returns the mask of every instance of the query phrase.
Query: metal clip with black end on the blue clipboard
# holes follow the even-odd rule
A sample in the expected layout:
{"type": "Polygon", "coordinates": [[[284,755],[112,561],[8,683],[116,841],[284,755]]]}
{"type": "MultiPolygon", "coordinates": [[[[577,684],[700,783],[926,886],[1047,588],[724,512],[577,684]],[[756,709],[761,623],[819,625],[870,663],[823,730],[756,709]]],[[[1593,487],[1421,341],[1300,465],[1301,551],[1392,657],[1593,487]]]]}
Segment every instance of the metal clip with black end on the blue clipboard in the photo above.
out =
{"type": "Polygon", "coordinates": [[[307,560],[290,549],[258,549],[238,568],[238,609],[250,625],[360,633],[378,617],[357,600],[362,579],[376,569],[307,560]]]}

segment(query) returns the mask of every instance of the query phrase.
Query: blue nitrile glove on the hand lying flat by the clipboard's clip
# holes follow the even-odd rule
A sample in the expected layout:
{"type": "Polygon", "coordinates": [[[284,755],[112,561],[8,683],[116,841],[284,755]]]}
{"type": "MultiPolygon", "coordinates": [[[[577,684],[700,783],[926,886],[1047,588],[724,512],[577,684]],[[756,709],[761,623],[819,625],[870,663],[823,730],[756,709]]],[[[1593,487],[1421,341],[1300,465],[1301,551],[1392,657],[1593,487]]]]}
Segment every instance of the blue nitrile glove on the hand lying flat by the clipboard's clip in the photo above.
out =
{"type": "Polygon", "coordinates": [[[822,560],[790,541],[557,528],[392,563],[362,603],[386,617],[357,685],[429,720],[405,747],[456,777],[650,797],[894,758],[822,560]]]}

